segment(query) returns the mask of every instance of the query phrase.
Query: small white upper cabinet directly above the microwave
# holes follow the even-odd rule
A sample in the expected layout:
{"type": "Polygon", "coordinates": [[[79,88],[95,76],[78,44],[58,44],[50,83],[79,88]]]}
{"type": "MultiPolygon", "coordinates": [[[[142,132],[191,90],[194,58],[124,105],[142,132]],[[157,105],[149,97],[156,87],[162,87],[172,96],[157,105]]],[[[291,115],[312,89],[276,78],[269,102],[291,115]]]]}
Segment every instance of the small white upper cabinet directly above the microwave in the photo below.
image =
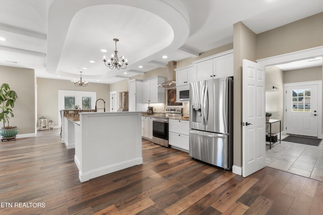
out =
{"type": "Polygon", "coordinates": [[[196,68],[195,65],[186,66],[183,68],[175,69],[176,71],[176,86],[189,85],[191,82],[196,81],[196,68]]]}

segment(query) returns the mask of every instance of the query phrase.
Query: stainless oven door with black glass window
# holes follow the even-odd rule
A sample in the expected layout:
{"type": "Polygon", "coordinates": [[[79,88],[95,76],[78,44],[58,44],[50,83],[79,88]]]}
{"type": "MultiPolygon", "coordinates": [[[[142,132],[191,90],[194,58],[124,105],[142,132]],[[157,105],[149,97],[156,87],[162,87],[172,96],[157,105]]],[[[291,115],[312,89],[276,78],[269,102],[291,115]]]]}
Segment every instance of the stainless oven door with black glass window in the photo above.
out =
{"type": "Polygon", "coordinates": [[[168,119],[152,118],[152,142],[161,146],[168,145],[168,119]]]}

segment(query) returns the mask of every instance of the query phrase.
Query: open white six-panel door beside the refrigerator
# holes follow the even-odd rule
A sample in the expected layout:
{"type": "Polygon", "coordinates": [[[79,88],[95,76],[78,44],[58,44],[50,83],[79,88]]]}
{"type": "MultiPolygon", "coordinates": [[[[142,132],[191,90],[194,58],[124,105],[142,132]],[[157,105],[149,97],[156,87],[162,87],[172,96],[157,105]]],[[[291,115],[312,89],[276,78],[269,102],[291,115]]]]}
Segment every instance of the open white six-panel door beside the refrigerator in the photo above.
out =
{"type": "Polygon", "coordinates": [[[265,67],[242,61],[242,176],[266,166],[265,67]]]}

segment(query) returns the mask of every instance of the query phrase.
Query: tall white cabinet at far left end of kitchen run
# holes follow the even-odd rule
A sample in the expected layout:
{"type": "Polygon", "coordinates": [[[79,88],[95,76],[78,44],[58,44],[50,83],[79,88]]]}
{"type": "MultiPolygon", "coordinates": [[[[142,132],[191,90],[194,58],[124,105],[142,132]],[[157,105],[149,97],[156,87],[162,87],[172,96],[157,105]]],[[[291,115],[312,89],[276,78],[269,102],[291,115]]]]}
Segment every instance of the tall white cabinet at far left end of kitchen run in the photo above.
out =
{"type": "Polygon", "coordinates": [[[142,80],[133,79],[128,82],[129,111],[147,111],[148,105],[142,103],[142,80]]]}

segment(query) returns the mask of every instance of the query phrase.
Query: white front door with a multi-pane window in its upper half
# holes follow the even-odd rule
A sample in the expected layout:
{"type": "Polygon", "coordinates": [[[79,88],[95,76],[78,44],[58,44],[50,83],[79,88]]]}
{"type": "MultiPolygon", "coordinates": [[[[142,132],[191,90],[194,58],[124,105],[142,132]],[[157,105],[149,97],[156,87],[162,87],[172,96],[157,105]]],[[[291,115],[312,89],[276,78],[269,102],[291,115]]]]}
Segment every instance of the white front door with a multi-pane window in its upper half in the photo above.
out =
{"type": "Polygon", "coordinates": [[[286,133],[317,137],[317,85],[286,88],[286,133]]]}

